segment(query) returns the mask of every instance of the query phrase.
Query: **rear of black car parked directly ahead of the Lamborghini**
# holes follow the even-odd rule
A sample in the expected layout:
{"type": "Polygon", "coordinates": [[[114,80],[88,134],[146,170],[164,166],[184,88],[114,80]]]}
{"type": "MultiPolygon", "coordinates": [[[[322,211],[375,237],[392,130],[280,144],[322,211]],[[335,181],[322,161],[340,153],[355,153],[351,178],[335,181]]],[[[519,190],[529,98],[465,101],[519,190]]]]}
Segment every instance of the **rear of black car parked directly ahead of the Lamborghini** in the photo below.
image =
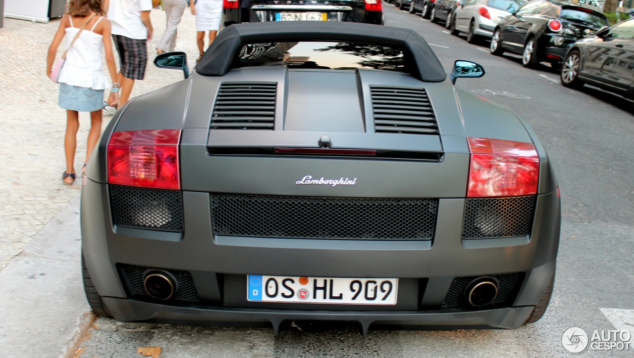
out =
{"type": "Polygon", "coordinates": [[[342,21],[384,25],[381,0],[224,0],[223,27],[243,22],[342,21]]]}

